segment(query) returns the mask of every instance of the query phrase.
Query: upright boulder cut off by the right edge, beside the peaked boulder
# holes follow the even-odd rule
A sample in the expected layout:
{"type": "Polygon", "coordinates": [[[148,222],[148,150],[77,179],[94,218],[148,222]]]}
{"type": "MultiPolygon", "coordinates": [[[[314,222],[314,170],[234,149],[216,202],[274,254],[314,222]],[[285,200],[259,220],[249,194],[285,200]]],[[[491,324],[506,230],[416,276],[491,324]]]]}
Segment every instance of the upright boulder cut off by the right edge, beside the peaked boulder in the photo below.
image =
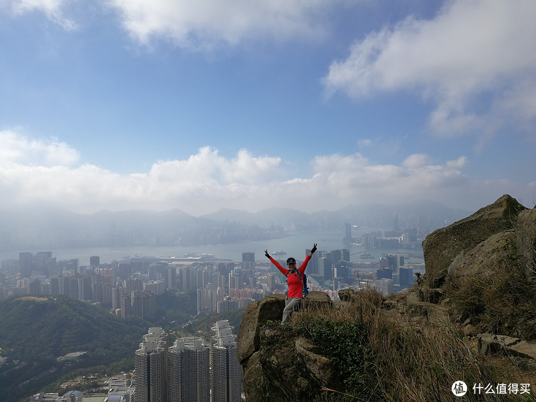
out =
{"type": "Polygon", "coordinates": [[[516,226],[516,250],[527,279],[536,275],[536,208],[519,214],[516,226]]]}

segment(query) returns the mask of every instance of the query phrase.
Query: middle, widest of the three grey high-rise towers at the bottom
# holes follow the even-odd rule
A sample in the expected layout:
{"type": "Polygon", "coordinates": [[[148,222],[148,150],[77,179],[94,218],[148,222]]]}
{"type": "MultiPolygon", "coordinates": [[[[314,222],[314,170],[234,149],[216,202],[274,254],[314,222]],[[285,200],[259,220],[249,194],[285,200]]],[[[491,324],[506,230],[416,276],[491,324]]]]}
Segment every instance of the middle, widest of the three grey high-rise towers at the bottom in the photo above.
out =
{"type": "Polygon", "coordinates": [[[175,340],[168,349],[167,398],[172,402],[210,401],[210,348],[202,338],[175,340]]]}

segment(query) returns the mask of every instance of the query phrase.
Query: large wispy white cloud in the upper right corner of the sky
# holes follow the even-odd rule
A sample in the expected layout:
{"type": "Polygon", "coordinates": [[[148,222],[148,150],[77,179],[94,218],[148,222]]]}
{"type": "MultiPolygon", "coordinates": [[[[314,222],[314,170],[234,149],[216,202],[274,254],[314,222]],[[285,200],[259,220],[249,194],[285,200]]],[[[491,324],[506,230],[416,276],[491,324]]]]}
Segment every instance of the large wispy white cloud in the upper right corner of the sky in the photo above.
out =
{"type": "Polygon", "coordinates": [[[325,88],[353,98],[420,91],[437,105],[429,122],[438,135],[490,135],[513,122],[533,131],[534,20],[532,0],[447,2],[434,19],[408,18],[354,43],[325,88]]]}

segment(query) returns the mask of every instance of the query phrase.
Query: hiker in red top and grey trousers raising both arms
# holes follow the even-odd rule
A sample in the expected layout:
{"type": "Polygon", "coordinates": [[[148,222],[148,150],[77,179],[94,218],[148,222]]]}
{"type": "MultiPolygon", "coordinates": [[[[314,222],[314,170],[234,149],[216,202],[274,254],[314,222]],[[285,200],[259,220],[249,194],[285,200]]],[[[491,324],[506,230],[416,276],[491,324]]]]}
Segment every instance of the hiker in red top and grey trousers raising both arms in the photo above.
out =
{"type": "Polygon", "coordinates": [[[270,254],[268,254],[268,250],[264,250],[264,255],[268,258],[270,258],[270,261],[273,265],[277,266],[277,269],[281,271],[282,274],[285,275],[287,278],[287,285],[288,285],[288,291],[287,291],[287,297],[285,299],[285,309],[283,310],[283,319],[281,321],[281,324],[287,321],[289,315],[296,307],[298,307],[303,299],[302,292],[304,291],[303,288],[303,278],[305,275],[305,269],[307,268],[307,263],[312,257],[312,254],[316,251],[316,243],[312,246],[311,252],[307,257],[305,257],[305,260],[303,261],[303,264],[300,265],[299,268],[296,269],[296,260],[293,257],[287,258],[287,269],[281,266],[275,259],[270,257],[270,254]]]}

